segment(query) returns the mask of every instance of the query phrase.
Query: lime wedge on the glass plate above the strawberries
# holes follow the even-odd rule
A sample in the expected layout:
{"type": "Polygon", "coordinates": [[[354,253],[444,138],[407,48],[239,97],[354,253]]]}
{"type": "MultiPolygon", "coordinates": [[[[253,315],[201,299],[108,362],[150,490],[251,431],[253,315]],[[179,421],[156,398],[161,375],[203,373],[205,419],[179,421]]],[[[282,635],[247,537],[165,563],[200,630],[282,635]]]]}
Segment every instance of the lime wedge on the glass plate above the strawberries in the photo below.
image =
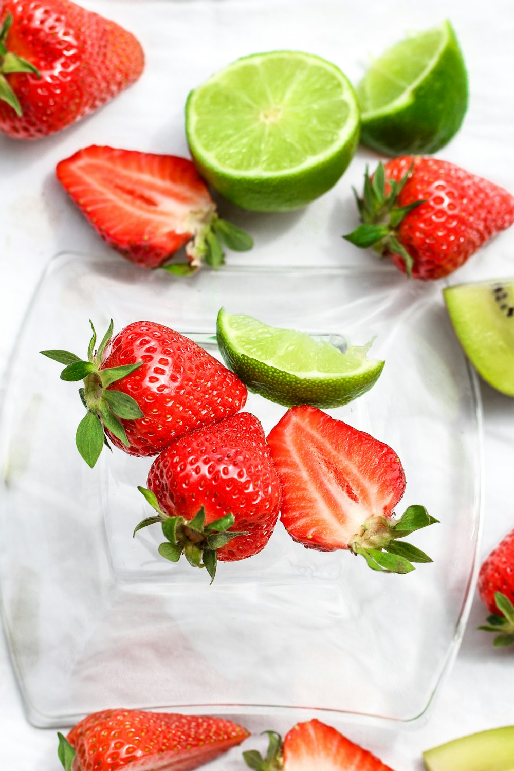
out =
{"type": "Polygon", "coordinates": [[[250,391],[292,407],[330,409],[348,404],[378,380],[385,362],[368,359],[367,345],[347,345],[344,353],[305,332],[270,327],[221,308],[217,341],[227,366],[250,391]]]}

